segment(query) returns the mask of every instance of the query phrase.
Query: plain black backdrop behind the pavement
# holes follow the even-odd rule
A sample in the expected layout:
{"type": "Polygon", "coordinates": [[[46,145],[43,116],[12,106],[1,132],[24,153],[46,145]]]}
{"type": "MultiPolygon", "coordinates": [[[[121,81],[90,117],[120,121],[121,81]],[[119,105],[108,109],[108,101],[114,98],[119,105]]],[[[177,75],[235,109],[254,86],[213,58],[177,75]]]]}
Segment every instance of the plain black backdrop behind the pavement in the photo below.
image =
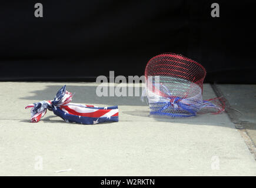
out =
{"type": "Polygon", "coordinates": [[[206,82],[256,83],[251,1],[6,1],[0,3],[0,80],[143,75],[152,56],[180,53],[206,82]],[[41,2],[44,17],[35,18],[41,2]],[[211,17],[211,4],[220,18],[211,17]]]}

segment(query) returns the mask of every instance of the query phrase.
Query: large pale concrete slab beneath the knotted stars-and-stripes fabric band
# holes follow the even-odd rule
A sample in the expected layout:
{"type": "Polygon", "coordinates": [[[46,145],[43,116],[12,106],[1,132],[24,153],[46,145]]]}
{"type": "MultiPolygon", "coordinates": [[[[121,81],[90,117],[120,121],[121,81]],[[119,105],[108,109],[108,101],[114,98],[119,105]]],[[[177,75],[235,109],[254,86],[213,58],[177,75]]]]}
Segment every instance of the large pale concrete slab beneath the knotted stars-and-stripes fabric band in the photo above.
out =
{"type": "MultiPolygon", "coordinates": [[[[138,85],[137,85],[138,86],[138,85]]],[[[139,97],[101,97],[96,83],[0,82],[1,176],[246,176],[256,162],[227,113],[149,116],[139,97]],[[24,107],[63,85],[72,102],[118,105],[119,122],[78,125],[47,112],[29,123],[24,107]],[[42,170],[37,168],[42,162],[42,170]],[[72,169],[56,173],[58,170],[72,169]]],[[[214,98],[204,85],[204,98],[214,98]]],[[[250,116],[250,118],[253,115],[250,116]]]]}

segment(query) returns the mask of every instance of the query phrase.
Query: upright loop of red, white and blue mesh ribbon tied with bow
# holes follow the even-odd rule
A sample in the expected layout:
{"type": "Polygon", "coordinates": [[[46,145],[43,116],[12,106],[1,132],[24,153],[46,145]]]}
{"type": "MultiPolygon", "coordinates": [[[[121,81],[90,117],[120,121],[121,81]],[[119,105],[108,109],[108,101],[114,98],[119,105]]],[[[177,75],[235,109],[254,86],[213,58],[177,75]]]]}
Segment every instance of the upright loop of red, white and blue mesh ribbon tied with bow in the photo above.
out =
{"type": "Polygon", "coordinates": [[[189,117],[197,113],[222,113],[222,98],[203,100],[205,68],[198,62],[175,53],[150,59],[145,69],[146,95],[150,113],[189,117]]]}

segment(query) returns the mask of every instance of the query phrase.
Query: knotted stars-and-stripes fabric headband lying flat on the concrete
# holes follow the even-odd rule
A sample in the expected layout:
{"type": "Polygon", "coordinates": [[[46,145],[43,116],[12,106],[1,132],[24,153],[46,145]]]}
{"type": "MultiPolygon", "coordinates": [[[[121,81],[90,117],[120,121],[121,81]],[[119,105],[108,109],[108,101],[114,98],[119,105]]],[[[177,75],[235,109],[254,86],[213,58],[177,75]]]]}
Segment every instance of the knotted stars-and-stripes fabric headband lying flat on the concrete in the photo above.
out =
{"type": "Polygon", "coordinates": [[[31,108],[31,122],[39,122],[46,110],[66,122],[97,124],[101,122],[118,122],[118,106],[100,108],[94,105],[70,103],[74,95],[66,90],[66,85],[58,90],[54,100],[43,100],[25,107],[31,108]]]}

